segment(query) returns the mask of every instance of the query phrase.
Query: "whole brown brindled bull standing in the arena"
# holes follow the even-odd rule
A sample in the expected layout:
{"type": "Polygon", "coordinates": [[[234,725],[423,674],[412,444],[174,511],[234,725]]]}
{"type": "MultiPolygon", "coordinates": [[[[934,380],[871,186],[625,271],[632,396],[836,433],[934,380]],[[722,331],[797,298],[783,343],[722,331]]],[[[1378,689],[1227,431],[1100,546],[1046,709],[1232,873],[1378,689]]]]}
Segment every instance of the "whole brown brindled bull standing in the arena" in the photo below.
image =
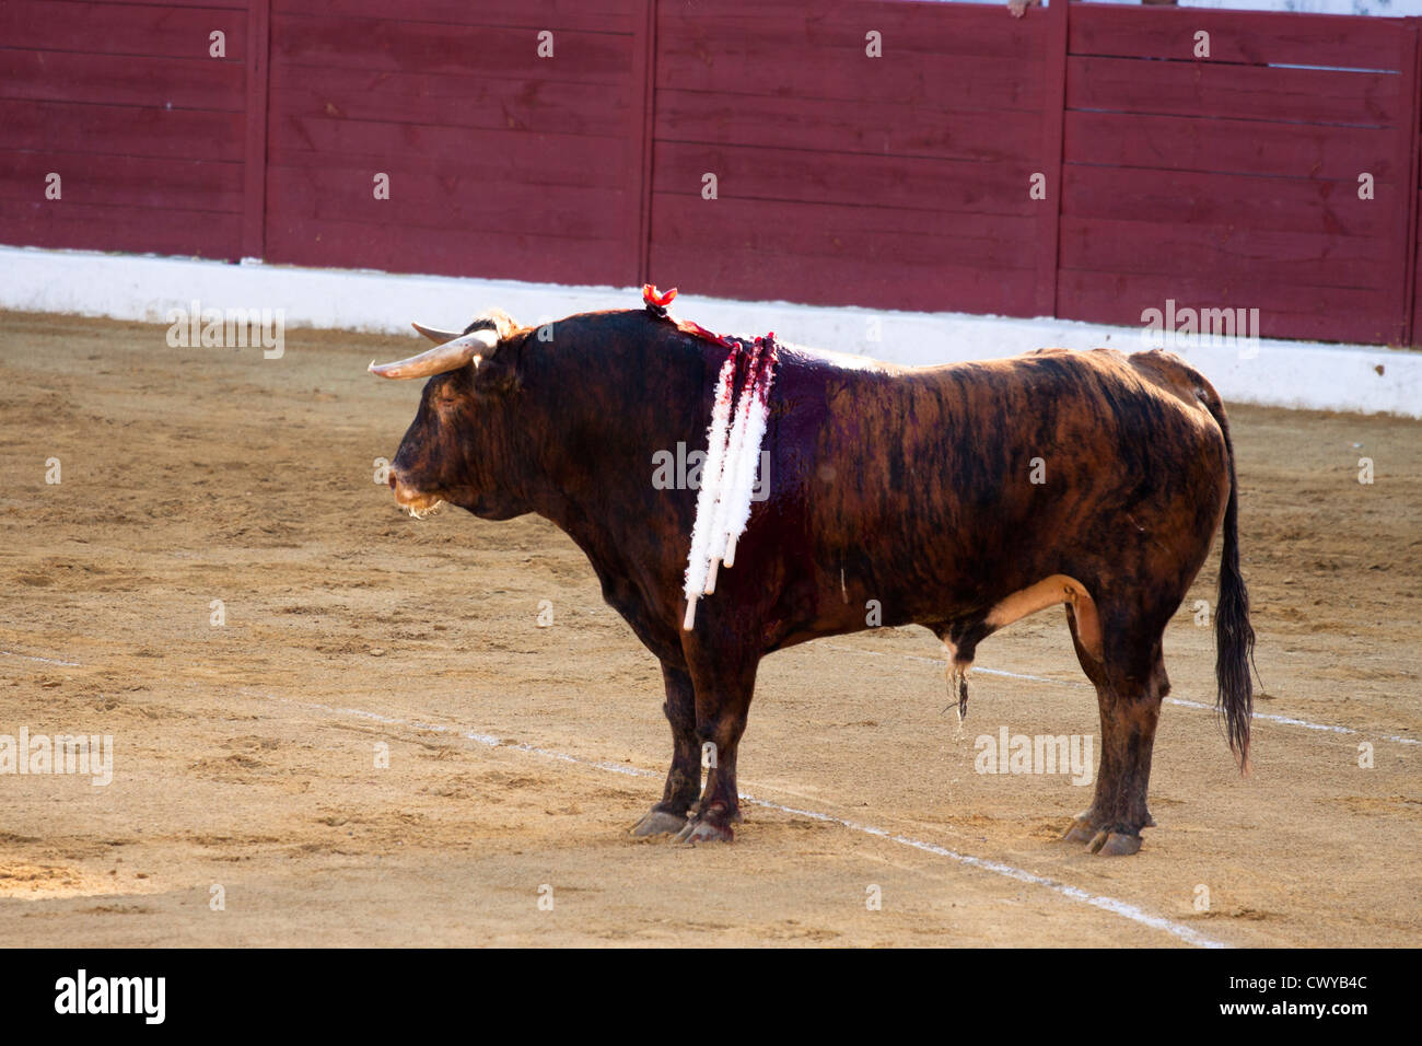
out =
{"type": "Polygon", "coordinates": [[[899,367],[784,346],[769,495],[683,630],[695,491],[654,487],[653,461],[698,445],[727,349],[643,310],[569,316],[552,340],[498,312],[462,336],[421,330],[441,344],[371,364],[432,376],[391,465],[395,500],[550,519],[661,662],[674,754],[637,835],[732,838],[737,746],[765,655],[867,628],[875,599],[883,625],[941,638],[963,685],[984,638],[1065,603],[1102,734],[1095,798],[1066,838],[1135,852],[1153,824],[1150,750],[1170,689],[1160,638],[1221,521],[1219,707],[1247,763],[1254,635],[1234,455],[1219,396],[1177,357],[1042,349],[899,367]],[[705,741],[717,759],[702,788],[705,741]]]}

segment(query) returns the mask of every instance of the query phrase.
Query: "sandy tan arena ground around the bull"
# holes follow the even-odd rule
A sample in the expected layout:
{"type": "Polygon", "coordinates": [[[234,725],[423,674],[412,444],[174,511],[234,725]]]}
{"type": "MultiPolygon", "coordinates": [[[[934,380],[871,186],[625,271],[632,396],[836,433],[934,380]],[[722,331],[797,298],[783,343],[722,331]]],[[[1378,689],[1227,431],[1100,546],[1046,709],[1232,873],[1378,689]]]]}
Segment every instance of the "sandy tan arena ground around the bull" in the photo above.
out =
{"type": "Polygon", "coordinates": [[[627,835],[660,673],[573,544],[373,482],[419,389],[364,367],[414,339],[164,333],[0,315],[0,734],[114,739],[107,787],[0,774],[0,945],[1422,945],[1419,423],[1231,408],[1277,719],[1240,777],[1189,704],[1212,556],[1139,855],[1058,841],[1068,776],[974,773],[1004,726],[1098,734],[1059,611],[984,643],[963,729],[926,630],[769,657],[762,805],[691,848],[627,835]]]}

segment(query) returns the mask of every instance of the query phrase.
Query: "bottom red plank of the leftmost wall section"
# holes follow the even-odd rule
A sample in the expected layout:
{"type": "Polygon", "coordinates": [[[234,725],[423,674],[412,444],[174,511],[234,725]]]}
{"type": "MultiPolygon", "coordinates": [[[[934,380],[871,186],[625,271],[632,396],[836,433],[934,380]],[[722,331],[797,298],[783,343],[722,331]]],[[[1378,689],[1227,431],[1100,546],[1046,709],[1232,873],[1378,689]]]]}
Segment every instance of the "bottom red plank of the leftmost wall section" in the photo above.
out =
{"type": "Polygon", "coordinates": [[[0,243],[236,260],[240,239],[237,213],[0,199],[0,243]]]}

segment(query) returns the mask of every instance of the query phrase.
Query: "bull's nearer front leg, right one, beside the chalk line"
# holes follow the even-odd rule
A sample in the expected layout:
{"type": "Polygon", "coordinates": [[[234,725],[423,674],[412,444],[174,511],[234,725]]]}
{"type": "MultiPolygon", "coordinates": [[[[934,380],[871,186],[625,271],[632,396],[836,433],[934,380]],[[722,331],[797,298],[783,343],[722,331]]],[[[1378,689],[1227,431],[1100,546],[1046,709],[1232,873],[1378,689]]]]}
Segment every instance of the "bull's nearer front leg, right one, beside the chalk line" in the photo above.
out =
{"type": "Polygon", "coordinates": [[[707,768],[701,801],[678,842],[729,842],[731,825],[741,820],[741,796],[735,787],[735,756],[745,731],[745,717],[755,692],[759,652],[708,650],[695,639],[683,649],[695,687],[697,741],[701,766],[707,768]]]}

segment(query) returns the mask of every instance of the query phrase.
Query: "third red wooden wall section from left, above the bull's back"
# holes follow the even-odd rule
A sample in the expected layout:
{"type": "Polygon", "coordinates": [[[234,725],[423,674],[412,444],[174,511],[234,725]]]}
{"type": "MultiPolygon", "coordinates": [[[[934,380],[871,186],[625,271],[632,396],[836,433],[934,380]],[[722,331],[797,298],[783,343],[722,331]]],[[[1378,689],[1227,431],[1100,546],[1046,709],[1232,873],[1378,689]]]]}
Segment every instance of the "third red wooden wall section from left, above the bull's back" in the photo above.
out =
{"type": "Polygon", "coordinates": [[[1037,315],[1047,17],[788,0],[657,13],[653,280],[1037,315]]]}

